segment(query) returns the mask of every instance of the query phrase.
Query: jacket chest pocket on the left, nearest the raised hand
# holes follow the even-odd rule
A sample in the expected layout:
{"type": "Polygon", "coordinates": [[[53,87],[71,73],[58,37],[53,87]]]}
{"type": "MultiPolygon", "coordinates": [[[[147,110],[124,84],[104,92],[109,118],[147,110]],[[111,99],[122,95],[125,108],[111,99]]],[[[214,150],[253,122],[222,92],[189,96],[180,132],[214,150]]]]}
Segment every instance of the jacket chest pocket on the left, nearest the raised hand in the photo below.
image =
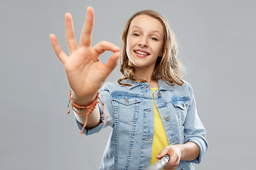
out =
{"type": "Polygon", "coordinates": [[[114,117],[122,123],[132,123],[139,115],[141,98],[131,95],[114,95],[114,117]]]}

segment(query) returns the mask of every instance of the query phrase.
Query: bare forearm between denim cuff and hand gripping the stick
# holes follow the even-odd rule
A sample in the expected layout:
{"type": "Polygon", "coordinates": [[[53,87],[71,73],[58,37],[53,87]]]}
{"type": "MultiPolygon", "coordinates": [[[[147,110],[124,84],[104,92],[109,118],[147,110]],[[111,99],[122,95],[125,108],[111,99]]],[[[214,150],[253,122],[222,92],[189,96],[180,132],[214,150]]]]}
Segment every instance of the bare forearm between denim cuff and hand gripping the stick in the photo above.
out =
{"type": "Polygon", "coordinates": [[[186,142],[183,145],[176,145],[181,149],[181,161],[192,161],[198,158],[200,149],[194,142],[186,142]]]}

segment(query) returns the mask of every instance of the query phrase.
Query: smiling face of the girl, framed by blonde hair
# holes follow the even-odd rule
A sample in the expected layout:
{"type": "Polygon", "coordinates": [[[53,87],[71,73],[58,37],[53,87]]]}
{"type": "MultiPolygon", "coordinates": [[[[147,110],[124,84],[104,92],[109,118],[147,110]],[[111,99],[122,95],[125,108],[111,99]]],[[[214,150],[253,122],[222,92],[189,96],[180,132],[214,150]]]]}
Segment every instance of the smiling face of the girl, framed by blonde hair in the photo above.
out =
{"type": "Polygon", "coordinates": [[[127,33],[129,65],[153,72],[163,44],[164,28],[158,20],[146,15],[135,17],[127,33]]]}

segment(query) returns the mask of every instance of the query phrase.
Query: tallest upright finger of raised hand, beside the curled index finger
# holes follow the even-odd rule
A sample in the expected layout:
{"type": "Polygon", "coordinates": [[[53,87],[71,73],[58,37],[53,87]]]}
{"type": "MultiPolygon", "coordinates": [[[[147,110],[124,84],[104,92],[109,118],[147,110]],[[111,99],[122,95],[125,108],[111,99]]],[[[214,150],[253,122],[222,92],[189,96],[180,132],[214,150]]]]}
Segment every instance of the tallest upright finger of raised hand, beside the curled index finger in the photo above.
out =
{"type": "Polygon", "coordinates": [[[94,11],[91,6],[87,7],[85,24],[80,35],[80,47],[90,46],[92,42],[92,28],[94,24],[94,11]]]}

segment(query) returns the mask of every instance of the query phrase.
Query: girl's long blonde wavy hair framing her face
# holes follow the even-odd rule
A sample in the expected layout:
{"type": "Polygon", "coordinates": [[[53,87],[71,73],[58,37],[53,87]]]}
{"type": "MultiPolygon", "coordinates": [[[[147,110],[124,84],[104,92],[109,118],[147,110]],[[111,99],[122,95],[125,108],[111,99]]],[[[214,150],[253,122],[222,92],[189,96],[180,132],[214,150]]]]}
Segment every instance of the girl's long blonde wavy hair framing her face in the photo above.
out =
{"type": "Polygon", "coordinates": [[[134,78],[135,69],[132,66],[129,66],[129,58],[127,56],[127,33],[129,30],[130,23],[132,20],[141,15],[151,16],[158,20],[164,28],[164,45],[161,50],[161,56],[156,60],[156,65],[154,67],[154,72],[152,75],[152,80],[163,79],[166,84],[173,86],[178,84],[182,86],[184,82],[181,79],[181,62],[178,61],[176,55],[178,52],[178,46],[174,32],[171,30],[168,21],[161,16],[156,11],[144,10],[135,13],[124,27],[121,36],[121,49],[122,55],[120,58],[120,72],[124,75],[123,78],[118,80],[118,83],[124,86],[131,86],[130,84],[124,84],[122,81],[124,79],[130,79],[132,81],[146,82],[144,79],[134,78]]]}

